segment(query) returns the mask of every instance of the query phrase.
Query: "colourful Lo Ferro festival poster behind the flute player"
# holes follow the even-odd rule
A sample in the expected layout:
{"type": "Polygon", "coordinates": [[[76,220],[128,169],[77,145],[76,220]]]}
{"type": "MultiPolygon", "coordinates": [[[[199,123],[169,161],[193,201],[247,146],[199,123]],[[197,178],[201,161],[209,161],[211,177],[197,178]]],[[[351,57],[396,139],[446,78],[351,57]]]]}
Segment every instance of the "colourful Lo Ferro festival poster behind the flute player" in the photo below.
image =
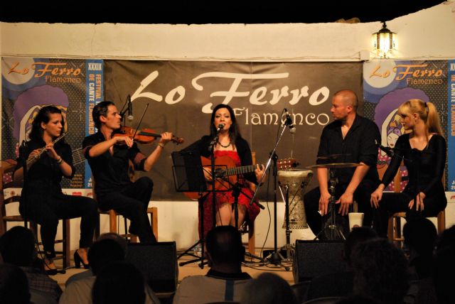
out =
{"type": "Polygon", "coordinates": [[[73,148],[76,168],[73,180],[63,178],[62,187],[69,189],[68,194],[82,194],[75,189],[87,187],[91,175],[82,140],[90,134],[90,102],[103,99],[102,60],[4,57],[1,65],[1,159],[17,158],[34,116],[53,104],[63,112],[69,132],[65,141],[73,148]]]}

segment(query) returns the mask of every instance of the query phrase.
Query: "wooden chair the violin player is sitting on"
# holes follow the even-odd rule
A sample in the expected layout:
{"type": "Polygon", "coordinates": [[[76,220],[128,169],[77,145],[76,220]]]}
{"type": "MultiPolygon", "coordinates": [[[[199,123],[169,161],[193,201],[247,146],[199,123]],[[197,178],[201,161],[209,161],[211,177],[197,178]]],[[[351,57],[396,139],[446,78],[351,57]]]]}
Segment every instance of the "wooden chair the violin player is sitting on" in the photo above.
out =
{"type": "MultiPolygon", "coordinates": [[[[129,161],[129,178],[134,181],[134,165],[132,161],[129,161]]],[[[93,199],[96,199],[95,195],[95,179],[92,176],[92,195],[93,199]]],[[[109,215],[109,232],[119,233],[117,219],[121,216],[115,210],[98,210],[100,215],[109,215]]],[[[148,207],[147,214],[150,215],[150,224],[151,229],[155,235],[156,240],[158,241],[158,208],[157,207],[148,207]]],[[[128,233],[127,218],[124,217],[124,234],[120,234],[122,237],[129,239],[131,243],[137,243],[137,235],[128,233]]],[[[98,223],[95,227],[95,237],[100,237],[100,217],[98,217],[98,223]]]]}

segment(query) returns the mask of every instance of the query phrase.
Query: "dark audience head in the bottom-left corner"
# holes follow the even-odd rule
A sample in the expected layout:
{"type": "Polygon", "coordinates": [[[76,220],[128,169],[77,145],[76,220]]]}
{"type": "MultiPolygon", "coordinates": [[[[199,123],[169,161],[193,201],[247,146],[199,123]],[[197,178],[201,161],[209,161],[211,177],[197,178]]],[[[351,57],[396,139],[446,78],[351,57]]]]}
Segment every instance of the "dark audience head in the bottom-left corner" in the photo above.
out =
{"type": "Polygon", "coordinates": [[[0,303],[30,303],[27,276],[16,265],[0,264],[0,303]]]}

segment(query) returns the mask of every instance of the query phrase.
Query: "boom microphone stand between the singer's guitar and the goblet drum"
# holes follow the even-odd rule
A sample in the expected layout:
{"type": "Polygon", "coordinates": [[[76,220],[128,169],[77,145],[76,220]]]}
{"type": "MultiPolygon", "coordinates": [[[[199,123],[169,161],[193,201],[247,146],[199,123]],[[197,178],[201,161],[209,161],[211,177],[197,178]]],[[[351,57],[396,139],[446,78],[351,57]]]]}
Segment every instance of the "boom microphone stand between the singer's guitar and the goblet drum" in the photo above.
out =
{"type": "MultiPolygon", "coordinates": [[[[270,152],[270,157],[269,160],[267,161],[267,165],[265,166],[264,172],[267,172],[267,170],[270,168],[270,165],[272,164],[273,161],[273,185],[274,185],[274,191],[273,191],[273,207],[274,207],[274,217],[273,217],[273,224],[274,224],[274,251],[272,254],[269,254],[265,259],[268,259],[272,264],[279,266],[281,264],[281,261],[284,260],[284,257],[279,254],[278,248],[277,248],[277,154],[275,151],[277,151],[277,146],[279,144],[279,141],[282,140],[282,136],[284,134],[284,130],[286,127],[289,125],[289,120],[287,119],[285,123],[282,126],[279,126],[279,128],[282,128],[281,133],[279,133],[279,136],[277,138],[277,141],[275,142],[274,148],[272,149],[272,152],[270,152]]],[[[257,192],[259,191],[260,186],[262,185],[262,181],[264,180],[265,174],[262,175],[261,180],[259,180],[259,184],[256,187],[255,194],[253,195],[252,199],[250,200],[250,206],[253,203],[253,200],[255,200],[255,197],[257,195],[257,192]]],[[[289,267],[285,267],[286,270],[289,270],[289,267]]]]}

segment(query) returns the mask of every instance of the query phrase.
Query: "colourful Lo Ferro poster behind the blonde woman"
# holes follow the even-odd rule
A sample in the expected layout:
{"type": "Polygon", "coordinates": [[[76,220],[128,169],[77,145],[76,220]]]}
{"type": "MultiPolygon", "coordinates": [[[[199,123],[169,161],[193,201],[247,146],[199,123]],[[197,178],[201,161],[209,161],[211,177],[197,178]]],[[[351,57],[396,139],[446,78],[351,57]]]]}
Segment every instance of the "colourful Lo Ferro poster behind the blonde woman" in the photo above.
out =
{"type": "MultiPolygon", "coordinates": [[[[449,164],[454,162],[453,139],[448,137],[447,99],[448,99],[448,67],[447,60],[373,60],[363,65],[363,97],[365,99],[365,116],[373,119],[381,132],[382,146],[394,147],[398,137],[405,131],[397,114],[397,107],[409,99],[422,99],[432,102],[437,107],[444,137],[449,142],[449,164]]],[[[449,95],[450,96],[450,95],[449,95]]],[[[450,104],[450,99],[449,99],[450,104]]],[[[449,116],[450,118],[450,116],[449,116]]],[[[378,170],[385,172],[390,158],[383,151],[379,152],[378,170]]],[[[446,174],[452,176],[454,166],[446,167],[446,174]],[[452,175],[451,175],[452,174],[452,175]]],[[[407,184],[407,170],[400,168],[401,185],[407,184]]],[[[393,190],[393,182],[387,190],[393,190]]],[[[453,187],[453,185],[452,185],[453,187]]],[[[448,190],[448,188],[446,188],[448,190]]]]}

